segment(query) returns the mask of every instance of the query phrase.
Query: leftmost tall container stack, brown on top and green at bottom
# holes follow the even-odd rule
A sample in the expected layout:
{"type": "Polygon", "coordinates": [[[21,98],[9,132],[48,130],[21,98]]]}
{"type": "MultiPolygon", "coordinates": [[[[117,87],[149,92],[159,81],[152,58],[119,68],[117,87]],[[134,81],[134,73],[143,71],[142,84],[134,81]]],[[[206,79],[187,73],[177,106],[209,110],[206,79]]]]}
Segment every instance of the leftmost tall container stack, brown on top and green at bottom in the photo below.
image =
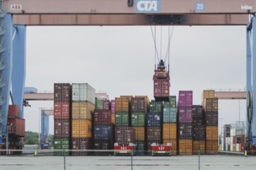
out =
{"type": "MultiPolygon", "coordinates": [[[[54,83],[54,150],[67,150],[71,138],[71,84],[54,83]]],[[[54,151],[54,155],[68,152],[54,151]]]]}

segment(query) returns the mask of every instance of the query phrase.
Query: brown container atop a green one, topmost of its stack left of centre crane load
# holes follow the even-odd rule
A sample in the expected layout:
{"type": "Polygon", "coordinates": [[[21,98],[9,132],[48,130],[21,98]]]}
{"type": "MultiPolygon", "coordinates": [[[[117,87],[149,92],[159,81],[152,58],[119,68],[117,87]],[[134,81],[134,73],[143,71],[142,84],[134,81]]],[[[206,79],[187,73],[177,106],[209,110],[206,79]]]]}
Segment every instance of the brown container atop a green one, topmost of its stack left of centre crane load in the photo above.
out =
{"type": "Polygon", "coordinates": [[[132,112],[147,112],[147,99],[144,97],[133,97],[131,100],[132,112]]]}

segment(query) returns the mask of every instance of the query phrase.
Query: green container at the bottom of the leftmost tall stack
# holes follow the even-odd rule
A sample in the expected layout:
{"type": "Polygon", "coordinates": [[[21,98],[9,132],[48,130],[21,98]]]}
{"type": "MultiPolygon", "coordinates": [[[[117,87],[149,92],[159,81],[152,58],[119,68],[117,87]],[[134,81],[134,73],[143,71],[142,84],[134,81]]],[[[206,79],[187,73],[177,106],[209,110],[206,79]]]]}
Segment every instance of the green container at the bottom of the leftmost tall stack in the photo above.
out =
{"type": "Polygon", "coordinates": [[[63,156],[68,155],[69,149],[69,141],[68,138],[54,138],[54,150],[62,150],[62,151],[54,151],[54,155],[63,156]]]}

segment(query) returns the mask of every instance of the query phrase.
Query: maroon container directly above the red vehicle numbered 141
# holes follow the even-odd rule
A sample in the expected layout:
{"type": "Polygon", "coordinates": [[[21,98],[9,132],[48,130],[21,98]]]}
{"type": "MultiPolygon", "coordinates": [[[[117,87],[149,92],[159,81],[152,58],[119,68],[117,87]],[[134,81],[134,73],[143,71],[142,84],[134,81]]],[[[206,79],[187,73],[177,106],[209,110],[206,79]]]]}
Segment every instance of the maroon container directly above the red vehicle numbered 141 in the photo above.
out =
{"type": "Polygon", "coordinates": [[[134,143],[134,129],[132,127],[116,127],[116,142],[119,145],[129,145],[129,143],[134,143]]]}

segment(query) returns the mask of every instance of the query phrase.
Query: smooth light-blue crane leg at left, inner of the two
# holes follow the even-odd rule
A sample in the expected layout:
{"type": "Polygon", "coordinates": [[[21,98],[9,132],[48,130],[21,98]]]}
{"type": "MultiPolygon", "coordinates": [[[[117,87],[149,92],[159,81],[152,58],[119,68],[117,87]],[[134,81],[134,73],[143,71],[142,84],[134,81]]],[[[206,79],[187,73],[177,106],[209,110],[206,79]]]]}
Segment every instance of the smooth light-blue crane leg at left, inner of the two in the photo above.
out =
{"type": "Polygon", "coordinates": [[[12,98],[23,117],[23,93],[26,76],[26,26],[13,26],[12,36],[12,98]]]}

